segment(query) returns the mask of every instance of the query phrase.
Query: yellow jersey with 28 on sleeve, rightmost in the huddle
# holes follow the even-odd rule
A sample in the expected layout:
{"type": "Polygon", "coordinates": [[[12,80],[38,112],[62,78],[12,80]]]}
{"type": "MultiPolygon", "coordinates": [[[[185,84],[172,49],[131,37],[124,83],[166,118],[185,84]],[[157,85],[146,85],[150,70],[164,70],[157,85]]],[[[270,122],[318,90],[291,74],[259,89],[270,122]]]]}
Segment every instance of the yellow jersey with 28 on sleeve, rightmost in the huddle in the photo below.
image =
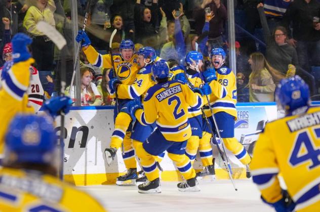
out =
{"type": "MultiPolygon", "coordinates": [[[[210,95],[210,105],[213,113],[226,112],[237,117],[236,104],[236,82],[234,73],[227,67],[216,69],[217,80],[210,82],[212,93],[210,95]]],[[[205,106],[206,116],[211,116],[208,106],[205,106]]]]}

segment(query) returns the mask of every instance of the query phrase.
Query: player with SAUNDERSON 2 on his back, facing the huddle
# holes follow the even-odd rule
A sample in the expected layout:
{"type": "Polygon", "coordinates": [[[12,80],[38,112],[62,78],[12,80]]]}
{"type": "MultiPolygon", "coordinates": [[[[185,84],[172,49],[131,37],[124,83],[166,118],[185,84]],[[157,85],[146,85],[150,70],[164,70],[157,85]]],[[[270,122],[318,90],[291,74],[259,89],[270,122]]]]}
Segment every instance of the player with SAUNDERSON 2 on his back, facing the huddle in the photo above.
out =
{"type": "MultiPolygon", "coordinates": [[[[144,110],[139,103],[128,104],[127,112],[136,117],[143,125],[156,122],[157,129],[148,138],[148,142],[136,148],[143,170],[149,182],[138,186],[140,193],[160,193],[159,172],[154,156],[167,150],[168,156],[175,162],[186,180],[179,183],[180,191],[199,191],[195,172],[190,159],[185,155],[186,141],[191,136],[187,109],[189,106],[200,108],[203,99],[179,81],[168,81],[169,66],[165,61],[157,61],[152,67],[152,75],[157,84],[151,87],[143,101],[144,110]]],[[[209,94],[209,86],[194,89],[209,94]]]]}

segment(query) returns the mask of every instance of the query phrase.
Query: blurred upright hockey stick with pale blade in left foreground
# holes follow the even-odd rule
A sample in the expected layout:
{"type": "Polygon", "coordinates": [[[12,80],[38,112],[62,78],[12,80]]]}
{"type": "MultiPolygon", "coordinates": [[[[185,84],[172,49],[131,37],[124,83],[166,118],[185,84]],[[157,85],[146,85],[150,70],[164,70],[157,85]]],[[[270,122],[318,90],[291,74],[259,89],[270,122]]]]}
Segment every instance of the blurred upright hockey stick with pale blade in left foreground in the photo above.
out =
{"type": "MultiPolygon", "coordinates": [[[[66,85],[66,73],[65,73],[65,60],[64,60],[64,54],[65,54],[65,45],[67,44],[65,38],[50,24],[44,21],[39,21],[36,24],[36,28],[43,32],[45,35],[47,35],[52,42],[58,47],[58,49],[61,51],[61,96],[64,96],[65,91],[65,85],[66,85]],[[62,74],[62,70],[64,70],[64,74],[62,74]]],[[[61,123],[60,123],[60,151],[61,151],[61,163],[60,163],[60,170],[59,170],[59,178],[60,180],[63,180],[63,166],[64,166],[64,116],[65,114],[63,111],[61,111],[61,123]]]]}

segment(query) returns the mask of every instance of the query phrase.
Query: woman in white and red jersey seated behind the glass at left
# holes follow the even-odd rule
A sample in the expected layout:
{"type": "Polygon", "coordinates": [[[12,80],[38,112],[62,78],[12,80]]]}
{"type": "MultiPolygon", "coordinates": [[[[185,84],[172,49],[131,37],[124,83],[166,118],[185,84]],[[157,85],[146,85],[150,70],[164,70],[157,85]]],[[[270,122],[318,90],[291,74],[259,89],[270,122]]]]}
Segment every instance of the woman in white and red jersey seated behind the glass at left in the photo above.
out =
{"type": "MultiPolygon", "coordinates": [[[[81,73],[81,106],[99,106],[102,104],[101,94],[99,93],[95,83],[91,81],[91,72],[88,67],[80,69],[81,73]]],[[[70,87],[66,89],[66,94],[69,93],[70,87]]],[[[75,101],[77,89],[72,89],[70,97],[75,101]]]]}

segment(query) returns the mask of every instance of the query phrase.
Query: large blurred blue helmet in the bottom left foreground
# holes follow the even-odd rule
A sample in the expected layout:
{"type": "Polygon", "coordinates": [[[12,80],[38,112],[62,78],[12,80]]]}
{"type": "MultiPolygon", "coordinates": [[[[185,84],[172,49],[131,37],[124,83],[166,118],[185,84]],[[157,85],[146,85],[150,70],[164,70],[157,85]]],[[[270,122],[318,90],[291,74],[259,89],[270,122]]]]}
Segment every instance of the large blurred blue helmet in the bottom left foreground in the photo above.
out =
{"type": "Polygon", "coordinates": [[[5,136],[5,161],[52,163],[57,148],[53,121],[49,116],[17,115],[5,136]]]}

